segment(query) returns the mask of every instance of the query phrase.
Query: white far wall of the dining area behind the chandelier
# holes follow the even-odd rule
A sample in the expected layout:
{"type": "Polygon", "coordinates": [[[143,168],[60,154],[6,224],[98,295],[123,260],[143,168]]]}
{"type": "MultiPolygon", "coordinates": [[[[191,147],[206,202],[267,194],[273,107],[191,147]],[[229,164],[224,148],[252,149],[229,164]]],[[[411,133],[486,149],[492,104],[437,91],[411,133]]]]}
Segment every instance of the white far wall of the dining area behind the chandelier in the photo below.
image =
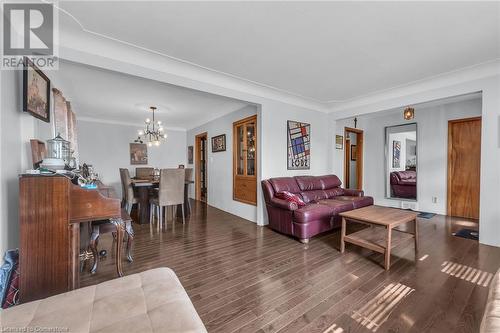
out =
{"type": "MultiPolygon", "coordinates": [[[[77,117],[78,119],[78,117],[77,117]]],[[[121,194],[119,168],[177,168],[186,164],[186,132],[166,129],[167,140],[160,146],[148,147],[148,165],[131,165],[129,143],[137,137],[140,126],[107,124],[77,120],[80,163],[92,164],[102,182],[115,187],[121,194]]]]}

